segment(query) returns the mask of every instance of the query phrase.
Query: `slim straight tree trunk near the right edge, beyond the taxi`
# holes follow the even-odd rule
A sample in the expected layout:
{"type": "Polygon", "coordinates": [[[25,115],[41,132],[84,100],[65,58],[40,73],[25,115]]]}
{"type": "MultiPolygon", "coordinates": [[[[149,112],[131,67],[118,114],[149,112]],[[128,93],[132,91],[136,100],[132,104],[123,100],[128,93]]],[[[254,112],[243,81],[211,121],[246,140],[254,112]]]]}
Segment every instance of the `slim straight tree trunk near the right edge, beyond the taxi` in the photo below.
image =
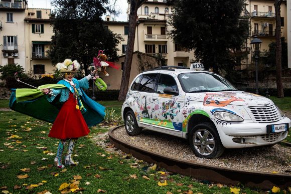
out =
{"type": "Polygon", "coordinates": [[[275,16],[276,16],[276,84],[277,84],[277,97],[283,98],[283,84],[282,84],[282,46],[281,46],[281,13],[280,6],[282,0],[275,0],[275,16]]]}

